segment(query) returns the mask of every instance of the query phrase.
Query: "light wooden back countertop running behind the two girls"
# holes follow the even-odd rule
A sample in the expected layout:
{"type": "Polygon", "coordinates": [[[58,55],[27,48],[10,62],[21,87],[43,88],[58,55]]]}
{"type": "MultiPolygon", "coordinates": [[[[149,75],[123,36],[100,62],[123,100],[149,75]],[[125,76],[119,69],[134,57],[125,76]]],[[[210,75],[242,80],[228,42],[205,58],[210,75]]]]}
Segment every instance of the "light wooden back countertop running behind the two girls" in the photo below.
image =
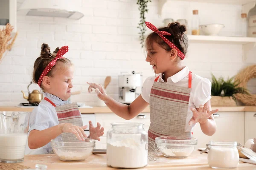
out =
{"type": "MultiPolygon", "coordinates": [[[[220,112],[256,112],[256,106],[234,106],[234,107],[212,107],[212,109],[220,109],[220,112]]],[[[31,112],[34,108],[30,107],[0,107],[0,111],[24,111],[31,112]]],[[[108,107],[79,108],[81,113],[113,113],[108,107]]],[[[149,113],[149,107],[145,108],[144,113],[149,113]]]]}

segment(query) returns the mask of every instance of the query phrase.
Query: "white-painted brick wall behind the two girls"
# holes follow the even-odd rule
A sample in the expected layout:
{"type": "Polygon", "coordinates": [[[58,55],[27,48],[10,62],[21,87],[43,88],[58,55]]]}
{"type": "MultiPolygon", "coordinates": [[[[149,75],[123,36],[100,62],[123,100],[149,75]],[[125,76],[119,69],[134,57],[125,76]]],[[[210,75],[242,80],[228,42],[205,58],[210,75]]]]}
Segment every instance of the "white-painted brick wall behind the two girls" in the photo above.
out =
{"type": "MultiPolygon", "coordinates": [[[[84,10],[80,20],[53,17],[31,17],[17,12],[19,35],[12,51],[0,63],[0,105],[13,106],[23,99],[21,90],[26,91],[32,80],[33,64],[40,55],[41,44],[48,43],[52,51],[56,47],[69,45],[66,54],[76,66],[74,91],[81,95],[72,96],[73,101],[96,105],[96,94],[87,94],[86,82],[104,83],[106,76],[112,76],[107,88],[108,94],[118,98],[117,76],[120,72],[136,71],[144,79],[154,75],[151,66],[145,62],[145,52],[139,41],[140,13],[135,0],[79,0],[84,10]]],[[[201,24],[222,23],[220,35],[239,36],[241,33],[241,6],[168,1],[163,15],[157,15],[157,2],[149,4],[146,18],[156,26],[163,26],[163,19],[174,20],[192,16],[192,10],[199,10],[201,24]],[[228,24],[229,23],[229,24],[228,24]]],[[[189,23],[190,24],[190,23],[189,23]]],[[[150,33],[147,30],[147,34],[150,33]]],[[[242,46],[214,43],[190,43],[184,64],[194,73],[211,79],[231,77],[239,70],[256,63],[256,49],[249,51],[246,62],[242,59],[242,46]]],[[[256,79],[250,80],[248,88],[256,93],[256,79]]],[[[33,84],[30,91],[39,89],[33,84]]]]}

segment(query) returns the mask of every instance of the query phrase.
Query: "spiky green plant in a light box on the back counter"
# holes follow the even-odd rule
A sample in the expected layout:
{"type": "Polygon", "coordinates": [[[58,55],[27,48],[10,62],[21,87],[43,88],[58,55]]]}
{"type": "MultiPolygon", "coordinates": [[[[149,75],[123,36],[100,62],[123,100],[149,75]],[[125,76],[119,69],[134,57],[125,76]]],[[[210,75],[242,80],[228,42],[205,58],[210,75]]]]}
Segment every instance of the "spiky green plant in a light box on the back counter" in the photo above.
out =
{"type": "Polygon", "coordinates": [[[240,82],[234,80],[234,77],[223,77],[216,79],[212,74],[212,106],[236,106],[235,94],[249,94],[246,88],[239,87],[240,82]]]}

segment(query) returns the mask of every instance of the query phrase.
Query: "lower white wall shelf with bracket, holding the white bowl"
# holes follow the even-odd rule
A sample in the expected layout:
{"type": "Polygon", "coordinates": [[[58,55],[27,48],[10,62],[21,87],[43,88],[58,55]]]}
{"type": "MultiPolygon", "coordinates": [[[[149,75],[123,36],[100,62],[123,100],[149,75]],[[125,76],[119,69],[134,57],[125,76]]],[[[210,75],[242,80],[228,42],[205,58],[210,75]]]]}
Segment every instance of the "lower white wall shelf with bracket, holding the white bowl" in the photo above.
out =
{"type": "Polygon", "coordinates": [[[188,35],[189,42],[229,43],[243,45],[243,59],[247,59],[246,52],[256,46],[256,38],[253,37],[224,37],[206,35],[188,35]]]}

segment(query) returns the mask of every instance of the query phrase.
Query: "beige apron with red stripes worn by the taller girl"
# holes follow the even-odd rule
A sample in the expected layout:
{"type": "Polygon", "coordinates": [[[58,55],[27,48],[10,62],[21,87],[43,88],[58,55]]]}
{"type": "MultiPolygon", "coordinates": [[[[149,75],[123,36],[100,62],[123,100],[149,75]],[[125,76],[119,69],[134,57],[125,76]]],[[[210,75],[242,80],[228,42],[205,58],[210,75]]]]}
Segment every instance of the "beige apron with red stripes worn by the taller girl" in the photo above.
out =
{"type": "Polygon", "coordinates": [[[192,72],[189,72],[188,88],[157,82],[158,79],[159,76],[154,80],[149,100],[151,123],[148,142],[155,142],[155,138],[159,136],[191,137],[191,132],[185,132],[185,126],[192,72]]]}

